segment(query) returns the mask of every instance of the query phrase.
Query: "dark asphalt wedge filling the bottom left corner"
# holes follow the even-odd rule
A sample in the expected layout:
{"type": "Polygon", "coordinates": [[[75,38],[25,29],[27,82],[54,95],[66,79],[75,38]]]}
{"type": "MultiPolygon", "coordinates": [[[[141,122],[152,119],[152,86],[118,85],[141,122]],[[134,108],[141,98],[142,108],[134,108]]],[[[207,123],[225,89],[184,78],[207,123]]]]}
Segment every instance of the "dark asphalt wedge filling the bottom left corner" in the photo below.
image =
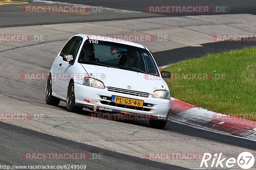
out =
{"type": "Polygon", "coordinates": [[[109,151],[88,144],[81,144],[54,137],[34,130],[21,128],[0,122],[1,158],[0,165],[19,166],[58,166],[58,165],[86,165],[86,169],[175,169],[183,170],[179,166],[172,166],[161,162],[142,159],[109,151]],[[21,157],[24,153],[85,153],[86,159],[68,160],[34,160],[21,157]],[[97,156],[96,156],[97,155],[97,156]]]}

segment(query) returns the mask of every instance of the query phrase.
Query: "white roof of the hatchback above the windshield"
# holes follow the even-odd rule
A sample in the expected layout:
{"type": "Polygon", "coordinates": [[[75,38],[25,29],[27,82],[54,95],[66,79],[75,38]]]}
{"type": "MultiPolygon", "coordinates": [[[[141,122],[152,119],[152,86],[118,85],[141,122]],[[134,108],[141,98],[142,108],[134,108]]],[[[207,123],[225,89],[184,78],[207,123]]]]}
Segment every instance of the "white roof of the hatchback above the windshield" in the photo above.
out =
{"type": "Polygon", "coordinates": [[[88,38],[90,39],[90,37],[92,37],[93,40],[116,42],[116,43],[120,43],[120,44],[125,44],[125,45],[130,45],[130,46],[134,46],[134,47],[147,49],[141,44],[131,42],[131,41],[125,41],[125,40],[121,40],[121,39],[117,39],[117,38],[113,38],[113,37],[106,37],[106,36],[101,36],[101,35],[91,35],[91,34],[76,34],[74,36],[80,36],[80,37],[83,37],[86,39],[88,39],[88,38]]]}

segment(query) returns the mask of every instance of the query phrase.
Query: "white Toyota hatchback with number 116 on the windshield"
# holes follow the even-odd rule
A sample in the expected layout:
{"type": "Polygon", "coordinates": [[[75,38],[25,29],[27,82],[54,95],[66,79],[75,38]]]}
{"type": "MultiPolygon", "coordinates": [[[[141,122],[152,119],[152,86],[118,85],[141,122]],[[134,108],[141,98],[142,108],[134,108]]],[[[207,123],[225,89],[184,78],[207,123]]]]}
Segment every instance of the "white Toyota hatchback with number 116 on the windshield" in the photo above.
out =
{"type": "Polygon", "coordinates": [[[67,110],[150,115],[151,127],[166,125],[171,96],[150,51],[141,44],[111,37],[76,34],[56,56],[45,100],[67,110]],[[93,39],[92,39],[93,37],[93,39]],[[154,119],[152,119],[152,117],[154,119]]]}

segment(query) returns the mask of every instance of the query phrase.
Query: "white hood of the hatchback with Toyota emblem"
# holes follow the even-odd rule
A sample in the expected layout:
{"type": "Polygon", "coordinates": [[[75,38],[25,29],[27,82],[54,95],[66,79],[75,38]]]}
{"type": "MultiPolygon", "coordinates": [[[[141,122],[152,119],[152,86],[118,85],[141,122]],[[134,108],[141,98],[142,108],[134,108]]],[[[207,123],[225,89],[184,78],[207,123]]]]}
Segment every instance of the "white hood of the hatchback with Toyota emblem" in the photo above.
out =
{"type": "MultiPolygon", "coordinates": [[[[149,94],[152,94],[155,90],[166,89],[166,83],[162,77],[92,64],[82,64],[82,66],[90,77],[99,79],[105,87],[147,92],[149,94]]],[[[168,87],[167,89],[169,90],[168,87]]]]}

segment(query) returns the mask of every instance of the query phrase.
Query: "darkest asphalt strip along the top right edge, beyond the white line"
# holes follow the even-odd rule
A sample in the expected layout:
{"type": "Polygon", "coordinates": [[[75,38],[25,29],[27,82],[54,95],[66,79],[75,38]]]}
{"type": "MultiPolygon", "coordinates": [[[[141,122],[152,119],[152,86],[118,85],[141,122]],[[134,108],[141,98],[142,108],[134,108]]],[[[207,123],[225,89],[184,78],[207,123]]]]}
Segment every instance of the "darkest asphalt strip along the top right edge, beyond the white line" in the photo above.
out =
{"type": "MultiPolygon", "coordinates": [[[[52,0],[59,1],[59,0],[52,0]]],[[[59,2],[70,2],[68,0],[60,0],[59,2]]],[[[108,0],[73,0],[73,3],[77,4],[86,4],[86,5],[94,5],[94,6],[104,6],[108,8],[118,8],[124,10],[133,10],[133,11],[141,11],[145,12],[146,6],[226,6],[230,9],[229,14],[256,14],[256,1],[254,0],[145,0],[145,1],[137,1],[137,0],[120,0],[118,2],[108,1],[108,0]],[[134,4],[134,5],[131,5],[134,4]]],[[[213,14],[213,13],[211,13],[213,14]]],[[[221,13],[216,13],[221,14],[221,13]]],[[[223,14],[223,13],[222,13],[223,14]]],[[[164,15],[171,16],[186,16],[186,15],[209,15],[209,13],[164,13],[164,15]]]]}

